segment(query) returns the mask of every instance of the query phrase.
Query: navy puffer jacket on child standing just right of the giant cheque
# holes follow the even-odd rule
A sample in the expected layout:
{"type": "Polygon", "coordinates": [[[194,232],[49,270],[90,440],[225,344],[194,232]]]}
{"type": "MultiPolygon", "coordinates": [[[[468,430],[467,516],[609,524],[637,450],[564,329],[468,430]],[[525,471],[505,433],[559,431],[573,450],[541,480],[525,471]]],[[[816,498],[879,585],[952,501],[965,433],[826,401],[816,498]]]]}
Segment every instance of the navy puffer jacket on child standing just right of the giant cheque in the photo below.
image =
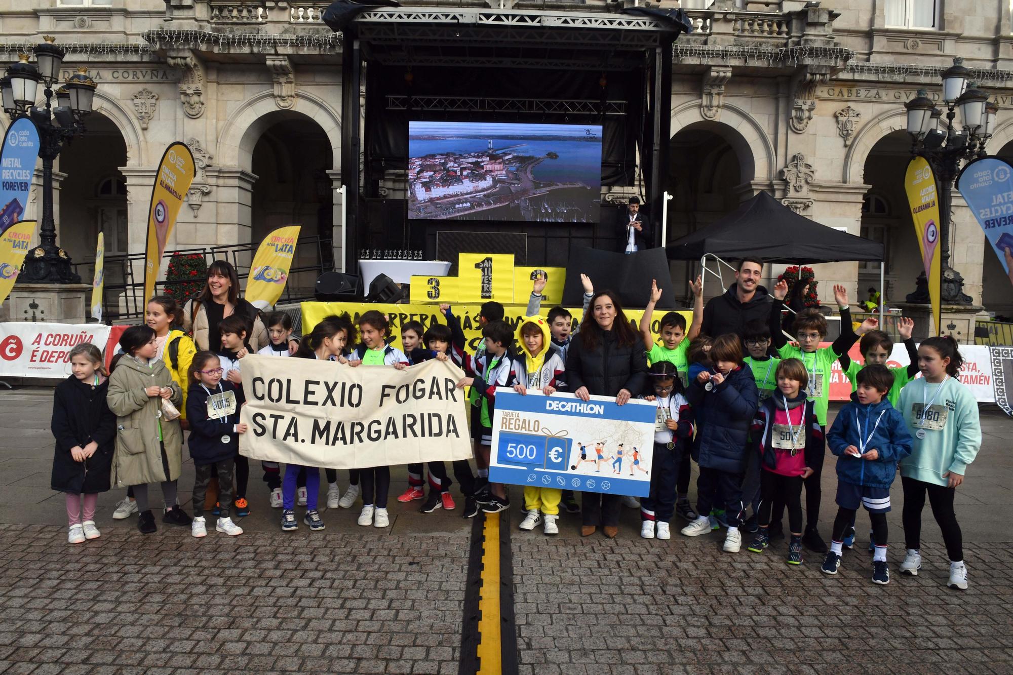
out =
{"type": "Polygon", "coordinates": [[[694,377],[686,398],[696,410],[697,437],[693,459],[702,468],[729,473],[746,470],[746,443],[760,396],[753,371],[739,366],[707,391],[694,377]]]}

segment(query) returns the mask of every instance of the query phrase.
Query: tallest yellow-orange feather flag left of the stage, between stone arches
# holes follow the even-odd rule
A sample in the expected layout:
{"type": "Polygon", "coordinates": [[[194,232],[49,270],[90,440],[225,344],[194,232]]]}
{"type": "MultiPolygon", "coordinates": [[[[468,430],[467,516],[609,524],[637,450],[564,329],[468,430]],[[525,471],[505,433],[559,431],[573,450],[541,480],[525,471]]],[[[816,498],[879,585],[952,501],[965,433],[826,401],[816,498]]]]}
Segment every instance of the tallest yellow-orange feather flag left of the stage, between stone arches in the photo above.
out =
{"type": "Polygon", "coordinates": [[[176,141],[165,149],[158,165],[148,207],[148,246],[144,264],[145,302],[155,294],[155,281],[183,198],[193,181],[193,155],[185,143],[176,141]]]}

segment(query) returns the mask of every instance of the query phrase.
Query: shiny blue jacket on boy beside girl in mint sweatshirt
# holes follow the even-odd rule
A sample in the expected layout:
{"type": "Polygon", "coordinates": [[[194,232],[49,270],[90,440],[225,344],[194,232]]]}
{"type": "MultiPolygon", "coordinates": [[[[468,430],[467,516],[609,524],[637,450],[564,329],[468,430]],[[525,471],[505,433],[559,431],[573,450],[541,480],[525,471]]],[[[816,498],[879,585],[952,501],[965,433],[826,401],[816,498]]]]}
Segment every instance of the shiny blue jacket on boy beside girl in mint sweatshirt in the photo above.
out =
{"type": "Polygon", "coordinates": [[[852,400],[842,407],[827,433],[827,444],[830,451],[838,456],[838,480],[852,485],[889,488],[897,474],[898,462],[911,454],[912,438],[904,416],[884,396],[875,405],[862,405],[852,400]],[[859,459],[844,454],[849,445],[861,449],[859,441],[865,437],[869,437],[865,444],[866,452],[875,448],[879,453],[877,459],[859,459]]]}

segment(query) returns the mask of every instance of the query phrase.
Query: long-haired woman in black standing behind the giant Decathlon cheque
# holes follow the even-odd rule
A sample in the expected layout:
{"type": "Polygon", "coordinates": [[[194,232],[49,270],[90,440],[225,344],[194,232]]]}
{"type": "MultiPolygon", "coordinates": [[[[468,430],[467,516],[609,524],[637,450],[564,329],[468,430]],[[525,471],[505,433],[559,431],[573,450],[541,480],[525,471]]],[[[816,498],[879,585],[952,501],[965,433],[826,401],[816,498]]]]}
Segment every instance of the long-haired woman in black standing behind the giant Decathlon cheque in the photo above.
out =
{"type": "MultiPolygon", "coordinates": [[[[647,353],[612,291],[596,293],[588,306],[580,332],[566,354],[566,382],[580,400],[615,396],[616,404],[623,405],[646,384],[647,353]]],[[[582,493],[580,535],[594,534],[602,525],[605,536],[616,536],[621,499],[621,495],[582,493]]]]}

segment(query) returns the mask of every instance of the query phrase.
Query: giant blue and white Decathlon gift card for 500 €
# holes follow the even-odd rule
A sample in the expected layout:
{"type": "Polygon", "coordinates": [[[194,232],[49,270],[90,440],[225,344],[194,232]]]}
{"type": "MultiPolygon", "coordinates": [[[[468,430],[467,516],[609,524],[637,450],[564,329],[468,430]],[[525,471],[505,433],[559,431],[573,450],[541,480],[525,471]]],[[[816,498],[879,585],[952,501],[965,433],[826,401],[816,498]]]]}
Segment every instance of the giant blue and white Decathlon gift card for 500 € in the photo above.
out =
{"type": "Polygon", "coordinates": [[[489,481],[646,497],[656,405],[496,389],[489,481]]]}

